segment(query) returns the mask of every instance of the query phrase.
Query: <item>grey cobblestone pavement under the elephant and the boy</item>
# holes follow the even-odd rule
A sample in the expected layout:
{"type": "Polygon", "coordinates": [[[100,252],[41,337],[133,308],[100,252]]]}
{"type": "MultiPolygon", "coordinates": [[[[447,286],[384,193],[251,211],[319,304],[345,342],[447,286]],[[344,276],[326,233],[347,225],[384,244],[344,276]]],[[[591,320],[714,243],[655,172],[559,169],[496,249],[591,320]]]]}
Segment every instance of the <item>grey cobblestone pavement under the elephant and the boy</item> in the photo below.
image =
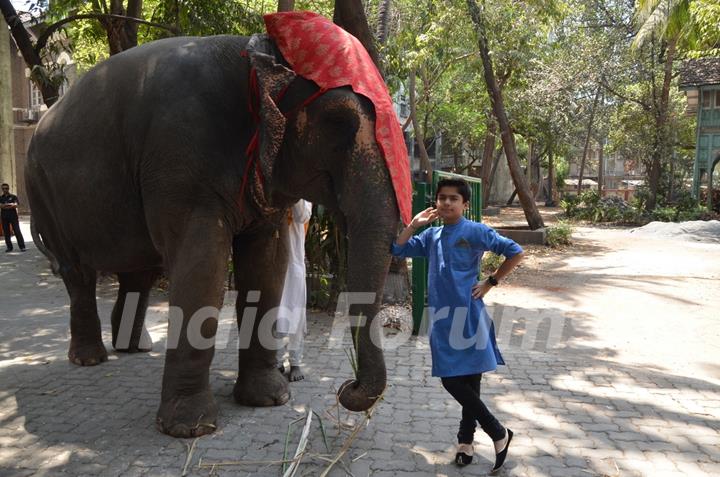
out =
{"type": "MultiPolygon", "coordinates": [[[[337,423],[334,390],[352,371],[342,343],[331,338],[332,317],[324,314],[309,317],[307,378],[292,384],[290,402],[236,405],[237,333],[226,316],[221,330],[230,330],[228,344],[217,350],[211,372],[218,430],[196,441],[167,437],[154,428],[164,361],[162,293],[148,317],[156,351],[111,352],[109,362],[82,368],[66,358],[65,290],[32,243],[25,254],[0,257],[0,283],[0,476],[178,476],[184,468],[193,476],[281,475],[280,466],[267,461],[282,458],[288,424],[310,409],[322,417],[330,451],[315,418],[297,475],[320,475],[327,466],[322,457],[337,454],[350,434],[347,425],[364,417],[341,411],[343,426],[337,423]],[[237,461],[244,463],[210,465],[237,461]]],[[[110,281],[98,289],[109,351],[114,293],[110,281]]],[[[511,330],[499,333],[508,365],[483,379],[486,402],[516,436],[499,475],[720,475],[717,379],[622,363],[590,349],[528,345],[523,335],[530,328],[518,324],[532,316],[518,319],[517,313],[495,314],[498,329],[511,330]]],[[[638,316],[645,318],[652,316],[638,316]]],[[[550,324],[538,330],[535,342],[555,339],[550,324]]],[[[580,330],[572,320],[563,323],[560,339],[580,330]]],[[[473,464],[452,464],[459,407],[430,376],[427,339],[402,336],[388,336],[402,344],[386,351],[384,402],[329,475],[486,475],[493,452],[481,432],[473,464]]],[[[347,333],[342,341],[349,342],[347,333]]],[[[718,355],[716,348],[706,360],[717,363],[718,355]]],[[[290,452],[301,426],[293,427],[290,452]]]]}

